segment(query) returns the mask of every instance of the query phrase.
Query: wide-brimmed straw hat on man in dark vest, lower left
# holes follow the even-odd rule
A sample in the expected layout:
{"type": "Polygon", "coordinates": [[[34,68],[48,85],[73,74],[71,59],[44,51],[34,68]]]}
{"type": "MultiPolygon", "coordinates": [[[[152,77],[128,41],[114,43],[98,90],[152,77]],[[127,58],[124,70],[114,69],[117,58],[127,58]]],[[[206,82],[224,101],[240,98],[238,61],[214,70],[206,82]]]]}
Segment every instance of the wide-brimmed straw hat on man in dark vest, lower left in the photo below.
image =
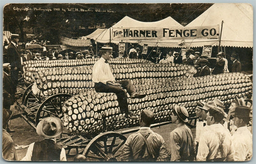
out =
{"type": "Polygon", "coordinates": [[[63,123],[60,118],[47,117],[42,119],[37,125],[37,134],[45,138],[54,138],[63,131],[63,123]]]}

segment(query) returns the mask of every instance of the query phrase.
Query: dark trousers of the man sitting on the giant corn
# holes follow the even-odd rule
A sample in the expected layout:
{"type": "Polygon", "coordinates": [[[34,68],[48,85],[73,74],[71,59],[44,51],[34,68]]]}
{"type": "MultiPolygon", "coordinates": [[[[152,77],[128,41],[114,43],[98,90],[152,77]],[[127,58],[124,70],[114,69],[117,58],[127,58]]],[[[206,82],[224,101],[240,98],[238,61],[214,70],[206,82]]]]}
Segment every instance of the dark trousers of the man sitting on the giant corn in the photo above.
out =
{"type": "Polygon", "coordinates": [[[120,83],[122,85],[122,88],[115,85],[104,84],[102,82],[95,83],[94,88],[96,92],[115,93],[117,96],[120,111],[122,113],[129,113],[127,94],[124,89],[126,89],[127,93],[130,95],[136,92],[136,90],[130,80],[122,80],[118,81],[117,83],[120,83]]]}

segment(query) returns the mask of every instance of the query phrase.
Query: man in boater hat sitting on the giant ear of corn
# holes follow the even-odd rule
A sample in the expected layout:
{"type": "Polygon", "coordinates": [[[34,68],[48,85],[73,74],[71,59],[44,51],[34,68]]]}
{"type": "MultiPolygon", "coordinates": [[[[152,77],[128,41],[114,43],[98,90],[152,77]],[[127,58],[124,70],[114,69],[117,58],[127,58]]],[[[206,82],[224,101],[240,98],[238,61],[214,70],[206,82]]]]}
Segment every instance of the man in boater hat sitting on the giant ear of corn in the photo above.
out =
{"type": "Polygon", "coordinates": [[[137,119],[132,112],[129,112],[127,93],[131,98],[143,98],[145,94],[139,94],[132,85],[130,80],[115,81],[110,69],[109,60],[112,58],[112,47],[102,47],[100,49],[101,58],[95,62],[92,70],[92,81],[95,82],[94,88],[96,92],[115,93],[120,111],[125,113],[126,117],[137,119]]]}

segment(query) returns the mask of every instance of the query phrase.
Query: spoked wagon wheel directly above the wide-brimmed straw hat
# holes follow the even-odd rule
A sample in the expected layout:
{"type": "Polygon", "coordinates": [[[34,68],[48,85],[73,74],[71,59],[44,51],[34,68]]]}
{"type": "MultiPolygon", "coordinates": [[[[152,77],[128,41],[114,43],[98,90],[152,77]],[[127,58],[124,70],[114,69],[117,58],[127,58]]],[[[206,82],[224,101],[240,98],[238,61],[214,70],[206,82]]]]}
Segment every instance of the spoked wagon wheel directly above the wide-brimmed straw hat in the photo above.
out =
{"type": "Polygon", "coordinates": [[[54,94],[48,97],[37,110],[36,125],[45,117],[62,118],[62,104],[71,96],[71,94],[54,94]]]}

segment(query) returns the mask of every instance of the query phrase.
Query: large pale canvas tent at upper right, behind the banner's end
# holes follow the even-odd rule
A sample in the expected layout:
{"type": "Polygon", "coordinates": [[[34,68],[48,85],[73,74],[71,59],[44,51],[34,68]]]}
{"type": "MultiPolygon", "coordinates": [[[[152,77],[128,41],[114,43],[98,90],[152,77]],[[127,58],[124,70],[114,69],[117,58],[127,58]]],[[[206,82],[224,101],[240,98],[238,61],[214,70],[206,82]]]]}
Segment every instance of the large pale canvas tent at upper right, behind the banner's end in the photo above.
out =
{"type": "MultiPolygon", "coordinates": [[[[223,21],[221,46],[253,47],[253,7],[248,3],[215,3],[189,26],[219,24],[223,21]]],[[[219,46],[219,39],[185,40],[190,47],[219,46]]]]}

